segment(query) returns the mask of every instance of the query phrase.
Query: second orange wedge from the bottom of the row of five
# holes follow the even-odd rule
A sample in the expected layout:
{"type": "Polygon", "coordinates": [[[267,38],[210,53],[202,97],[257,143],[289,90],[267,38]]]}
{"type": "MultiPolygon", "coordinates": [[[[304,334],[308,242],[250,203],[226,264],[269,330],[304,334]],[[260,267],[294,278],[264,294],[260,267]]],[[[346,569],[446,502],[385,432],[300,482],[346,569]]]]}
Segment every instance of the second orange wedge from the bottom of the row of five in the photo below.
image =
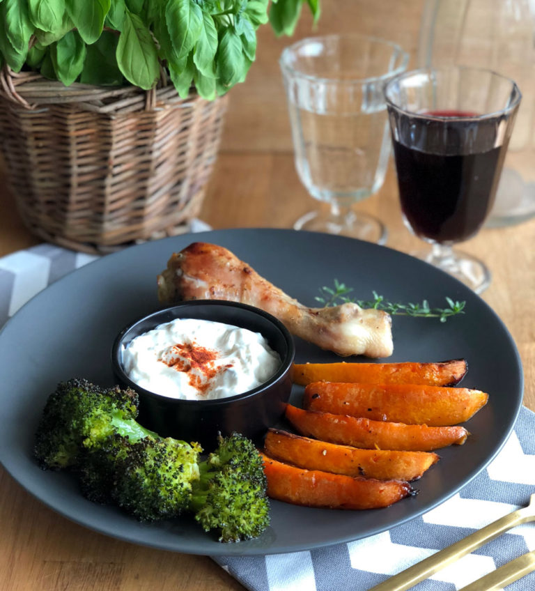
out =
{"type": "Polygon", "coordinates": [[[378,480],[416,480],[439,456],[433,452],[362,450],[269,429],[264,452],[270,458],[307,470],[378,480]]]}

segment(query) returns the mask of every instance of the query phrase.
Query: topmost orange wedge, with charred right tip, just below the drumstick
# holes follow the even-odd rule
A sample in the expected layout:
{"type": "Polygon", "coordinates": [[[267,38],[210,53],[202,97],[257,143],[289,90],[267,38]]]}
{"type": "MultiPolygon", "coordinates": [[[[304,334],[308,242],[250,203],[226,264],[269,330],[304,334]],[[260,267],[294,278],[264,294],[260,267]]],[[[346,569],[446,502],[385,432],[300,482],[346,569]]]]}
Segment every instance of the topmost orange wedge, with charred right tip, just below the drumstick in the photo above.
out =
{"type": "Polygon", "coordinates": [[[325,381],[447,386],[458,384],[467,369],[464,359],[429,363],[295,363],[292,377],[299,385],[325,381]]]}

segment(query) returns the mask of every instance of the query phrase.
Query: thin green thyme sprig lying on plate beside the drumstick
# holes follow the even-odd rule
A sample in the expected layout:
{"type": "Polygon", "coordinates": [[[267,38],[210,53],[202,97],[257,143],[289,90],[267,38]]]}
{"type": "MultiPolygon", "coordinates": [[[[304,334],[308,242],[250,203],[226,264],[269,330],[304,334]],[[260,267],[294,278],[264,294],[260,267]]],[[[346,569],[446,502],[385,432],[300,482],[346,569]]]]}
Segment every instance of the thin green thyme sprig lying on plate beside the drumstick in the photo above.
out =
{"type": "Polygon", "coordinates": [[[388,314],[395,316],[414,316],[415,318],[438,318],[440,322],[446,322],[450,316],[456,316],[457,314],[465,314],[466,302],[454,301],[451,298],[446,297],[448,307],[431,307],[427,300],[423,300],[419,304],[400,304],[395,302],[389,302],[379,296],[376,291],[372,291],[373,300],[357,300],[356,298],[350,298],[348,293],[351,293],[352,288],[341,283],[338,279],[334,279],[334,287],[323,286],[320,288],[320,296],[316,296],[316,301],[324,307],[334,306],[337,304],[343,304],[346,302],[354,302],[362,308],[375,308],[378,310],[384,310],[388,314]]]}

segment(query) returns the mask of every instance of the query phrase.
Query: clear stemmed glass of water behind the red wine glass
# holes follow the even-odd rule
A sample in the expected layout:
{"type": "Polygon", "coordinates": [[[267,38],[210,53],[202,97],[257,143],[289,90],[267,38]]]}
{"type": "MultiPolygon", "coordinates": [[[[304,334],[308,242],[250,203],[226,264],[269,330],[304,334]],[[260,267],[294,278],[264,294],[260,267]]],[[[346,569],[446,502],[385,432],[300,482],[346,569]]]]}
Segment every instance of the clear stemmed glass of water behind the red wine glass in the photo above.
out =
{"type": "Polygon", "coordinates": [[[304,39],[281,55],[295,166],[315,199],[329,204],[301,217],[295,229],[385,243],[386,229],[352,204],[380,189],[391,142],[383,87],[403,72],[408,54],[362,35],[304,39]]]}

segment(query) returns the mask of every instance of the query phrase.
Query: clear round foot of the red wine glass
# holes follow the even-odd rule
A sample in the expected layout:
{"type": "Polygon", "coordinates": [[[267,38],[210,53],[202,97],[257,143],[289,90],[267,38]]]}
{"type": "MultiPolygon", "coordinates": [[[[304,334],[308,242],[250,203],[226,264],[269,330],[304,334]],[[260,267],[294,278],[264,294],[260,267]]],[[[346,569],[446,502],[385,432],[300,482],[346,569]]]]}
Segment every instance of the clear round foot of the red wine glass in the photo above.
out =
{"type": "Polygon", "coordinates": [[[455,250],[449,256],[436,256],[433,250],[417,250],[410,254],[449,273],[475,293],[482,293],[490,285],[492,275],[485,263],[466,252],[455,250]]]}

